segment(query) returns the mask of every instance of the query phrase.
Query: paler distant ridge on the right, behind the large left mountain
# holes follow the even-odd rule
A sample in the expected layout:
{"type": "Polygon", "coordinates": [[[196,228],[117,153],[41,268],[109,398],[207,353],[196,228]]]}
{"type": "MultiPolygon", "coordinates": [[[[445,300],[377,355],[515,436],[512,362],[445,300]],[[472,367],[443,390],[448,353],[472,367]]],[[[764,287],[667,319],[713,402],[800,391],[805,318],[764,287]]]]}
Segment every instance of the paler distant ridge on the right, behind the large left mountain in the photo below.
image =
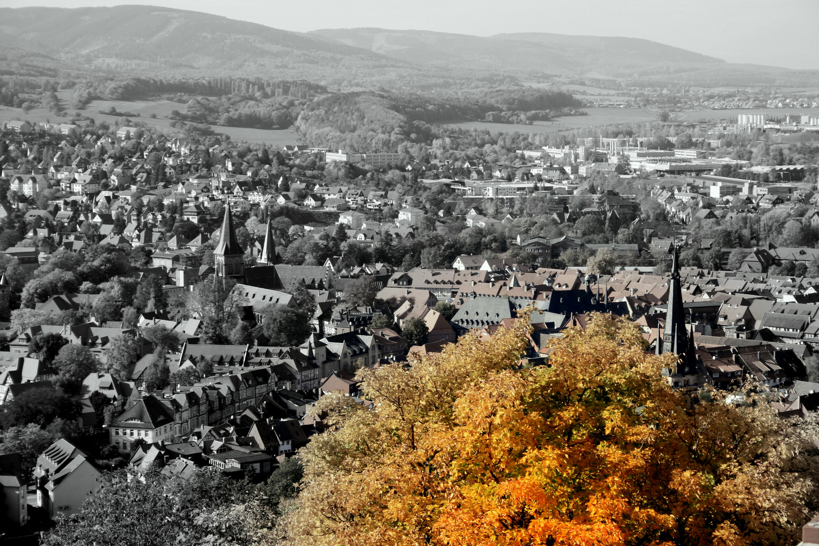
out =
{"type": "Polygon", "coordinates": [[[320,29],[314,38],[450,70],[686,81],[702,85],[813,85],[819,70],[738,65],[640,38],[548,33],[480,37],[427,30],[320,29]]]}

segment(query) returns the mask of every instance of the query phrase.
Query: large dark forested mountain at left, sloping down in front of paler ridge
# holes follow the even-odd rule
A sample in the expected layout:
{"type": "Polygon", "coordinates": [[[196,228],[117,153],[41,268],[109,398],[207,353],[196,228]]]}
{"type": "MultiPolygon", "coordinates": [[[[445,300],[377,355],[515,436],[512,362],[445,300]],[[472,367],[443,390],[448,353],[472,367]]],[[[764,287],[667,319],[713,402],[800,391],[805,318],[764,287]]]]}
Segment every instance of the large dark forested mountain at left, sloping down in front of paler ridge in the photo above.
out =
{"type": "Polygon", "coordinates": [[[0,44],[75,65],[143,74],[226,71],[322,82],[408,65],[369,49],[247,21],[136,5],[0,8],[0,44]]]}

